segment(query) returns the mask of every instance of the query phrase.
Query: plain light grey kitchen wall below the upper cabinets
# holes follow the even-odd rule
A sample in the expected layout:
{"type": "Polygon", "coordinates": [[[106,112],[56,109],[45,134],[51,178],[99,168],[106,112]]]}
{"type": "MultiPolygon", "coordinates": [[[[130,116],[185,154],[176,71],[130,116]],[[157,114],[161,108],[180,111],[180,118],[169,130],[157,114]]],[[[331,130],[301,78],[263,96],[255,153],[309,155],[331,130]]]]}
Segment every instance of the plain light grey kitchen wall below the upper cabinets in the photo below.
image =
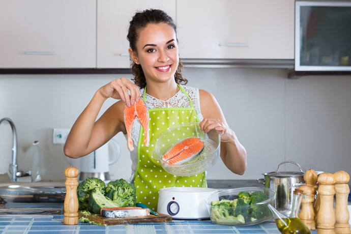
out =
{"type": "MultiPolygon", "coordinates": [[[[186,69],[189,86],[211,92],[229,126],[248,154],[243,176],[232,174],[219,161],[208,179],[257,179],[285,160],[313,168],[351,173],[351,77],[309,76],[287,79],[284,69],[186,69]]],[[[53,128],[70,128],[100,86],[121,75],[0,75],[0,118],[11,118],[18,133],[19,157],[34,140],[45,156],[46,180],[64,180],[70,161],[63,145],[52,143],[53,128]]],[[[125,75],[131,78],[131,75],[125,75]]],[[[114,100],[103,106],[107,109],[114,100]]],[[[11,128],[0,126],[0,173],[11,161],[11,128]]],[[[112,179],[128,179],[131,162],[122,134],[122,148],[110,166],[112,179]]],[[[19,168],[25,165],[18,162],[19,168]]],[[[77,160],[73,164],[79,166],[77,160]]],[[[283,164],[280,171],[293,170],[283,164]]]]}

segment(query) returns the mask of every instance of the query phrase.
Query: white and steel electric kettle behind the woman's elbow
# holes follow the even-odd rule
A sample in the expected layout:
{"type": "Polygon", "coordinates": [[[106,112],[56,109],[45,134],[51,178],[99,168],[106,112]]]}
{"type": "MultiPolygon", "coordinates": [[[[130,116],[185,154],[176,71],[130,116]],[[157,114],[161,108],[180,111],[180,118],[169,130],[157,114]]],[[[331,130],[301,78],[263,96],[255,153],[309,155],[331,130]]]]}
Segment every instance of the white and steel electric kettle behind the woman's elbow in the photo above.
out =
{"type": "Polygon", "coordinates": [[[114,139],[109,140],[96,151],[81,158],[79,180],[96,177],[103,181],[109,181],[109,165],[118,161],[120,155],[120,145],[114,139]]]}

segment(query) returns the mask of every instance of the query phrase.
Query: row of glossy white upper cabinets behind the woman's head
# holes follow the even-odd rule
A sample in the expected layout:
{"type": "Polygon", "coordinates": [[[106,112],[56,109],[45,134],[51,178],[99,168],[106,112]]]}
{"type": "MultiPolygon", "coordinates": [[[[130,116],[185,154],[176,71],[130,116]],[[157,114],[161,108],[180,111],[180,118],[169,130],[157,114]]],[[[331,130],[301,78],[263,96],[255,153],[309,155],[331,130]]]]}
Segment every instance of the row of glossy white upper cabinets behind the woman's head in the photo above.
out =
{"type": "Polygon", "coordinates": [[[176,21],[181,58],[291,60],[294,1],[1,0],[0,68],[129,68],[129,22],[151,8],[176,21]]]}

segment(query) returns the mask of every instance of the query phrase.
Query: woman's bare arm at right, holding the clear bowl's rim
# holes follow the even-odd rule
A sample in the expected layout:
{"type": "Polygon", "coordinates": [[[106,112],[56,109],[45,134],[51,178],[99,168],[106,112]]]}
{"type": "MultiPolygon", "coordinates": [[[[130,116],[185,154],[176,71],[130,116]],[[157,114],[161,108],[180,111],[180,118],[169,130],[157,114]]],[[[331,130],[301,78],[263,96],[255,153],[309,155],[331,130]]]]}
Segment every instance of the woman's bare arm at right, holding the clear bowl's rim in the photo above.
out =
{"type": "Polygon", "coordinates": [[[216,129],[221,136],[220,156],[224,165],[236,174],[244,174],[246,163],[246,150],[239,142],[235,132],[228,127],[221,107],[215,97],[204,90],[199,90],[200,108],[203,121],[200,128],[205,133],[216,129]]]}

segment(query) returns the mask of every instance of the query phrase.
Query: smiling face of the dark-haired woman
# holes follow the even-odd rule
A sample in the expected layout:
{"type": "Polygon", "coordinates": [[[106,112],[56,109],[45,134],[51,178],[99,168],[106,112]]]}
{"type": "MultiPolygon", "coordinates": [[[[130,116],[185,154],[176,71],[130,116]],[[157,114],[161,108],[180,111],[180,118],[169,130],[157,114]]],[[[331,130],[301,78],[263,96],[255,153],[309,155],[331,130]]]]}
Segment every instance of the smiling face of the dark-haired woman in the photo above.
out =
{"type": "Polygon", "coordinates": [[[137,54],[132,58],[140,63],[145,78],[156,82],[174,80],[179,64],[176,32],[166,23],[149,24],[139,31],[137,54]],[[171,79],[170,79],[171,78],[171,79]]]}

